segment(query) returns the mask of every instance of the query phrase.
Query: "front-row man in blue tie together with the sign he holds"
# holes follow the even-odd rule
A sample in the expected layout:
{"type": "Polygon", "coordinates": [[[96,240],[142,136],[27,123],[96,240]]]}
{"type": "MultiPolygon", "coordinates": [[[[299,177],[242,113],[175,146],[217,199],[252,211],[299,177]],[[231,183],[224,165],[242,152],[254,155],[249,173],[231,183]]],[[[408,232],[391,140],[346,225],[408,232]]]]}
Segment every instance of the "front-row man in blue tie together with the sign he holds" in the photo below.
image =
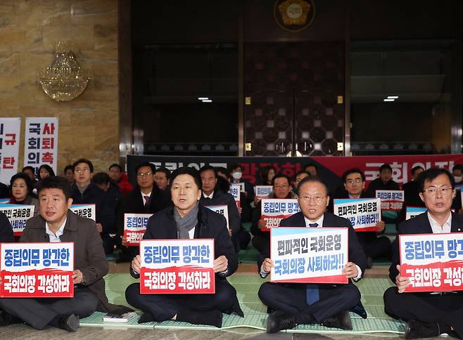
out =
{"type": "MultiPolygon", "coordinates": [[[[281,227],[302,227],[300,233],[306,232],[323,232],[324,228],[333,228],[331,233],[343,231],[343,242],[336,240],[338,245],[343,245],[345,253],[341,255],[343,261],[336,260],[336,281],[330,281],[331,273],[326,273],[325,280],[323,273],[324,269],[319,271],[317,277],[308,275],[298,277],[296,280],[279,280],[280,283],[265,282],[259,289],[260,300],[272,310],[267,322],[267,332],[274,333],[281,329],[291,329],[298,324],[310,324],[320,322],[326,327],[337,327],[341,329],[352,329],[352,322],[348,310],[360,305],[360,291],[350,282],[350,279],[360,280],[365,268],[365,254],[360,246],[355,231],[350,225],[350,222],[334,214],[325,212],[326,206],[329,203],[329,196],[326,190],[326,185],[316,177],[306,177],[300,181],[298,185],[298,202],[300,212],[281,221],[280,228],[272,228],[272,238],[274,230],[277,233],[293,233],[289,228],[281,227]],[[341,228],[343,230],[341,230],[341,228]],[[348,241],[347,241],[348,238],[348,241]],[[349,261],[349,262],[347,262],[349,261]],[[322,276],[320,276],[320,274],[322,276]],[[305,280],[307,279],[307,280],[305,280]],[[312,279],[312,280],[310,280],[312,279]],[[315,279],[315,280],[313,280],[315,279]],[[318,281],[317,281],[318,279],[318,281]],[[345,282],[345,284],[331,284],[329,282],[345,282]],[[288,283],[291,282],[291,283],[288,283]],[[292,282],[326,282],[326,283],[292,283],[292,282]]],[[[292,229],[292,228],[291,228],[292,229]]],[[[296,228],[294,228],[296,230],[296,228]]],[[[326,230],[329,232],[330,230],[326,230]]],[[[331,240],[333,235],[324,237],[323,240],[331,240]]],[[[330,256],[331,253],[325,252],[328,247],[333,248],[333,242],[328,245],[328,241],[322,242],[320,245],[318,238],[312,242],[314,237],[307,239],[301,237],[297,242],[290,242],[285,251],[288,250],[288,259],[293,259],[296,254],[303,255],[301,262],[305,265],[298,268],[297,273],[308,272],[309,268],[313,267],[312,259],[319,258],[319,255],[330,256]],[[297,248],[297,249],[296,249],[297,248]],[[322,251],[322,252],[320,252],[322,251]],[[307,266],[308,263],[308,266],[307,266]]],[[[336,243],[336,242],[335,242],[336,243]]],[[[279,252],[274,253],[275,247],[279,244],[272,242],[272,256],[280,255],[279,252]]],[[[334,247],[336,249],[341,249],[334,247]]],[[[334,249],[331,249],[334,250],[334,249]]],[[[286,252],[285,254],[288,254],[286,252]]],[[[299,259],[298,259],[299,260],[299,259]]],[[[272,280],[276,275],[276,261],[266,258],[260,267],[260,276],[266,277],[272,271],[272,280]]],[[[331,263],[329,263],[331,266],[331,263]]],[[[317,267],[317,266],[315,266],[317,267]]],[[[366,318],[366,315],[364,316],[366,318]]]]}

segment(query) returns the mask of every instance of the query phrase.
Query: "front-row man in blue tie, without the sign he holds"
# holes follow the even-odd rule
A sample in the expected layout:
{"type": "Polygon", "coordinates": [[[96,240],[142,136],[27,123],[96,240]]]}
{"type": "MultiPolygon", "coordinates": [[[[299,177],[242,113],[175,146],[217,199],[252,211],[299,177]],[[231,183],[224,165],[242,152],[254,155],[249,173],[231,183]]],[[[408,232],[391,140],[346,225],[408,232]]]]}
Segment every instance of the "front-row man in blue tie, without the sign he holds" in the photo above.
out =
{"type": "MultiPolygon", "coordinates": [[[[344,227],[349,230],[349,260],[343,269],[348,279],[360,280],[365,269],[365,254],[350,222],[325,209],[329,203],[326,185],[316,177],[306,177],[298,185],[300,212],[281,221],[281,227],[344,227]]],[[[266,277],[274,266],[268,257],[258,264],[260,276],[266,277]]],[[[259,289],[260,300],[272,310],[267,332],[290,329],[301,323],[321,322],[326,327],[352,329],[348,310],[360,305],[360,291],[347,285],[307,285],[265,282],[259,289]]],[[[366,316],[365,316],[366,318],[366,316]]]]}

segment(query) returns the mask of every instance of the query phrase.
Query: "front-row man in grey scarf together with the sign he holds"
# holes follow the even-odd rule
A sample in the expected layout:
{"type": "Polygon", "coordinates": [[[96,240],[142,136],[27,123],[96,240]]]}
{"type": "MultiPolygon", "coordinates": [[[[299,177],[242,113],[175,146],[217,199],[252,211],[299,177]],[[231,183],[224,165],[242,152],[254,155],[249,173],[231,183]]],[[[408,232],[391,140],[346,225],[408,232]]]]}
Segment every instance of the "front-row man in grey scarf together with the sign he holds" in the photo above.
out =
{"type": "Polygon", "coordinates": [[[130,270],[132,276],[140,277],[141,283],[127,287],[127,302],[144,311],[140,323],[177,320],[222,327],[222,312],[236,312],[243,316],[236,290],[226,279],[238,267],[227,223],[224,216],[198,203],[202,192],[201,178],[196,169],[185,166],[175,170],[171,183],[174,206],[159,211],[148,221],[141,241],[141,256],[137,255],[132,260],[130,270]],[[145,247],[144,242],[148,243],[149,240],[162,240],[162,245],[145,247]],[[196,246],[198,242],[203,245],[196,246]],[[207,243],[211,243],[211,247],[205,245],[207,243]],[[201,250],[201,256],[196,252],[193,255],[190,250],[196,247],[207,250],[201,250]],[[154,251],[155,248],[158,250],[154,251]],[[202,261],[196,259],[199,257],[202,261]],[[153,269],[156,263],[158,267],[153,269]],[[196,273],[191,273],[192,270],[200,275],[205,273],[207,282],[203,280],[203,276],[196,276],[198,280],[189,281],[185,285],[183,274],[195,275],[196,273]],[[210,272],[212,277],[209,276],[210,272]],[[159,275],[159,280],[151,279],[155,274],[159,275]],[[199,287],[192,289],[196,290],[194,294],[188,294],[188,287],[185,287],[193,288],[196,285],[215,286],[215,292],[199,287]],[[170,294],[164,294],[165,292],[170,294]]]}

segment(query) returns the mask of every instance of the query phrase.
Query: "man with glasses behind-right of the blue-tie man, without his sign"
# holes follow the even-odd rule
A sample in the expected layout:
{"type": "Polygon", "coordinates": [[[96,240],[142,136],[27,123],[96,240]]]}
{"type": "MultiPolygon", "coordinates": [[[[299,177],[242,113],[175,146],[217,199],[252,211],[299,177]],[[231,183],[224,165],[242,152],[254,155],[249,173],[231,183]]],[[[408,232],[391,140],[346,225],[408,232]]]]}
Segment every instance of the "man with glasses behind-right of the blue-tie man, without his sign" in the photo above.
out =
{"type": "MultiPolygon", "coordinates": [[[[343,183],[345,192],[336,198],[356,199],[367,198],[365,195],[365,175],[360,169],[349,169],[343,174],[343,183]]],[[[329,204],[329,211],[334,212],[334,203],[329,204]]],[[[373,260],[378,257],[391,256],[391,241],[387,236],[380,235],[386,227],[384,221],[376,223],[377,232],[359,232],[356,233],[362,248],[367,255],[367,268],[372,268],[373,260]]]]}

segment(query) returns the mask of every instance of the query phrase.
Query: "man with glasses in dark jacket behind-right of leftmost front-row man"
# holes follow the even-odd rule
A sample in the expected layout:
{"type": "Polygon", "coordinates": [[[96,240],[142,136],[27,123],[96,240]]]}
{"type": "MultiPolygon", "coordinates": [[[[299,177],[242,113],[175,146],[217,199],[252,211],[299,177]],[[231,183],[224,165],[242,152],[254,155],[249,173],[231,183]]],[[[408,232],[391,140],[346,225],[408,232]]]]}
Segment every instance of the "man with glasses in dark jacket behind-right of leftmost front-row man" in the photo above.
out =
{"type": "Polygon", "coordinates": [[[89,159],[77,159],[72,164],[74,183],[72,183],[73,204],[95,204],[96,228],[103,239],[105,254],[113,254],[114,240],[110,234],[115,234],[115,207],[106,192],[91,183],[94,166],[89,159]]]}

